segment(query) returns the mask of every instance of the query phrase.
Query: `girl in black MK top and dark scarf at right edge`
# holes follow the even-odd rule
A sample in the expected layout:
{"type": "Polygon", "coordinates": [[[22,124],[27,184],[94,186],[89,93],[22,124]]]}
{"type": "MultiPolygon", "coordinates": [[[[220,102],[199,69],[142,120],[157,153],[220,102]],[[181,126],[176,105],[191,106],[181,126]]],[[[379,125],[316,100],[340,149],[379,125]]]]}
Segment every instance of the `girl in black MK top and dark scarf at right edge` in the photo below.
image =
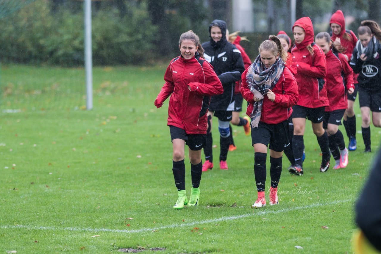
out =
{"type": "Polygon", "coordinates": [[[359,40],[353,50],[349,64],[359,73],[359,102],[361,110],[361,129],[364,152],[371,152],[370,111],[375,127],[381,127],[381,29],[375,21],[361,22],[357,33],[359,40]]]}

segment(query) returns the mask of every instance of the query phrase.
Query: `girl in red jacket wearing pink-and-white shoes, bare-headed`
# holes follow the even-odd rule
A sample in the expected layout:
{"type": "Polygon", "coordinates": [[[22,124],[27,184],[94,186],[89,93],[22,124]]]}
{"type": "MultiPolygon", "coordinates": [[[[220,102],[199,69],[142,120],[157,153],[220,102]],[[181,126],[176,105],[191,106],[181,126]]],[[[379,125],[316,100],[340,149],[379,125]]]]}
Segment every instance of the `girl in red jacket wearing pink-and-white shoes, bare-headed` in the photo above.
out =
{"type": "Polygon", "coordinates": [[[327,62],[327,97],[330,105],[325,107],[323,128],[328,134],[330,150],[336,161],[333,169],[345,168],[348,165],[348,149],[339,125],[348,106],[347,91],[349,94],[354,91],[353,70],[344,54],[338,53],[332,45],[327,32],[317,34],[315,42],[323,50],[327,62]]]}

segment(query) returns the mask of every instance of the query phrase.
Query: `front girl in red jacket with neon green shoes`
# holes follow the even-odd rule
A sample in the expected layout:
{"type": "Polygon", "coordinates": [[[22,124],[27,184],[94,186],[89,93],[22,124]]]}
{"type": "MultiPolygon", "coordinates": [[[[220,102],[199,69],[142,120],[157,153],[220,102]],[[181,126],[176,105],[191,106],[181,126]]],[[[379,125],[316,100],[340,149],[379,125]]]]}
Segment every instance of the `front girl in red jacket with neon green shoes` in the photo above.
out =
{"type": "Polygon", "coordinates": [[[213,67],[203,59],[199,37],[192,30],[181,34],[181,55],[172,59],[166,69],[165,84],[155,100],[157,108],[171,95],[168,126],[173,147],[173,176],[178,190],[175,209],[184,204],[196,206],[200,196],[202,174],[201,149],[206,142],[207,111],[210,96],[222,94],[221,81],[213,67]],[[189,147],[192,190],[189,202],[185,192],[184,146],[189,147]]]}

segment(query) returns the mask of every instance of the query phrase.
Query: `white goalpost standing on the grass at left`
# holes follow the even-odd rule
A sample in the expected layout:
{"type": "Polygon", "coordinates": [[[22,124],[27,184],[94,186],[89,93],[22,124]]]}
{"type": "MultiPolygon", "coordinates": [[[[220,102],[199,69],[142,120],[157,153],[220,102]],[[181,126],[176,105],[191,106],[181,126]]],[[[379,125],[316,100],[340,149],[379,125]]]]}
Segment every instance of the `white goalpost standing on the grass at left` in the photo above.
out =
{"type": "Polygon", "coordinates": [[[93,51],[91,44],[91,0],[85,0],[86,110],[93,109],[93,51]]]}

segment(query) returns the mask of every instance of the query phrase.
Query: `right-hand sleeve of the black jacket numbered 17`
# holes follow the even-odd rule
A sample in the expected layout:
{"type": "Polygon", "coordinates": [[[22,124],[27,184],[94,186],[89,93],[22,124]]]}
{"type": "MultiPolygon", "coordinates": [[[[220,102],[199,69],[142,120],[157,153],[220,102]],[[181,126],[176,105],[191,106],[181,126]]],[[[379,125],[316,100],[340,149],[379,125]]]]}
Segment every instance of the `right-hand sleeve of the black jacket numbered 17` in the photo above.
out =
{"type": "Polygon", "coordinates": [[[221,83],[223,85],[233,84],[235,83],[235,81],[240,80],[241,74],[245,70],[245,66],[243,65],[242,55],[240,51],[237,50],[237,48],[235,48],[235,46],[232,49],[231,55],[232,55],[232,60],[231,60],[232,69],[218,75],[218,78],[219,80],[221,80],[221,83]]]}

